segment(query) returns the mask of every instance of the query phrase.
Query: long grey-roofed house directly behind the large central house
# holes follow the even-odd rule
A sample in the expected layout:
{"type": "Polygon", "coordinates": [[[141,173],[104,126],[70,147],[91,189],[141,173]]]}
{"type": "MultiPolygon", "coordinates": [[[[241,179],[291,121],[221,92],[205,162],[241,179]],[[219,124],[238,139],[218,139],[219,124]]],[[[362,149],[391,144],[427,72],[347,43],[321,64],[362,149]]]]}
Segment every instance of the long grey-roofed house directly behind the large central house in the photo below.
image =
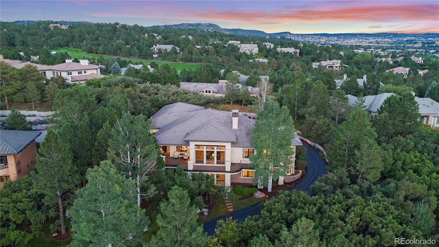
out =
{"type": "MultiPolygon", "coordinates": [[[[203,82],[180,82],[180,89],[187,89],[190,91],[198,91],[204,95],[213,95],[215,97],[226,95],[226,80],[219,80],[216,83],[203,83],[203,82]]],[[[243,85],[238,84],[239,89],[243,85]]],[[[251,96],[257,96],[259,88],[247,86],[251,96]]]]}

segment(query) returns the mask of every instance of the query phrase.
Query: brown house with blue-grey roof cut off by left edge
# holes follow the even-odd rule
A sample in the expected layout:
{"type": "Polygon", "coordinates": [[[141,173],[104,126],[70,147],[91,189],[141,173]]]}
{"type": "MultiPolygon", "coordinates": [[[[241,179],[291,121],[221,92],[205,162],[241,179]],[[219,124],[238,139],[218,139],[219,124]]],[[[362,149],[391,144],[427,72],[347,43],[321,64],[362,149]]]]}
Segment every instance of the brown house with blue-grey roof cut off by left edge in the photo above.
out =
{"type": "Polygon", "coordinates": [[[34,169],[35,139],[41,132],[0,130],[0,187],[3,182],[21,178],[34,169]]]}

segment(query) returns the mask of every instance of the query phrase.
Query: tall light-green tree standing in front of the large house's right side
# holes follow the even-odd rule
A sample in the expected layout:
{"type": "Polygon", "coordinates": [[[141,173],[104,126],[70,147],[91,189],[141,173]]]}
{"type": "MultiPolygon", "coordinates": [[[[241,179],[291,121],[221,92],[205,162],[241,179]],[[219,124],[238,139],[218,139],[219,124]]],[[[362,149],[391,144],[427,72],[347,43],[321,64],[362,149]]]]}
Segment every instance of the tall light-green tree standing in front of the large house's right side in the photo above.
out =
{"type": "Polygon", "coordinates": [[[268,192],[272,191],[273,180],[285,176],[292,163],[294,131],[287,106],[265,102],[252,130],[255,153],[250,155],[250,167],[256,170],[254,183],[268,186],[268,192]]]}

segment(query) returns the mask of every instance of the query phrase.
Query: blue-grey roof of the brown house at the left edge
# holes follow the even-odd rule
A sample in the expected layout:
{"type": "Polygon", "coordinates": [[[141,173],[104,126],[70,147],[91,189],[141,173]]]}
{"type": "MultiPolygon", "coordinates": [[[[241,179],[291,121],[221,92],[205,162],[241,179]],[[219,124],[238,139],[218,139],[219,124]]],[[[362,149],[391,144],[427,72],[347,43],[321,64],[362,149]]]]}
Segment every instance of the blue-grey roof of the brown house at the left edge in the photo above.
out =
{"type": "Polygon", "coordinates": [[[0,154],[19,154],[41,132],[25,130],[0,130],[0,154]]]}

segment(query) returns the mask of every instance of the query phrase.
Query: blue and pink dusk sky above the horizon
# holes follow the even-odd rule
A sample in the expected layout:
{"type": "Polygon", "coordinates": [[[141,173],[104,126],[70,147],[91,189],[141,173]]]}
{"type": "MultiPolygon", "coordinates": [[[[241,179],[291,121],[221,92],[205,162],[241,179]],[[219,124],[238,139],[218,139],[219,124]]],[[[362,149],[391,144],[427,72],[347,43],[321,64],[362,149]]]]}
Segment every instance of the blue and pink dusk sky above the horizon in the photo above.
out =
{"type": "Polygon", "coordinates": [[[268,33],[439,33],[439,1],[0,1],[1,21],[214,23],[268,33]]]}

